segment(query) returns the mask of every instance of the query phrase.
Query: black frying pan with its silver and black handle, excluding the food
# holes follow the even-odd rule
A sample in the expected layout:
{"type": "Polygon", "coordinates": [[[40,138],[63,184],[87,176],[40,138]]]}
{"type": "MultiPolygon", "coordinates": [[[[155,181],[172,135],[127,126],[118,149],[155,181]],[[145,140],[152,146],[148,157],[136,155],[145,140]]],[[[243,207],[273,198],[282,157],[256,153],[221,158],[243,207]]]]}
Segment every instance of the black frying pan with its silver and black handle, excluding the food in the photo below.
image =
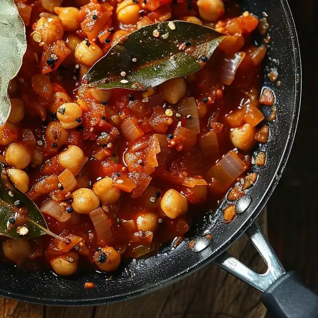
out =
{"type": "Polygon", "coordinates": [[[258,173],[257,182],[247,190],[237,204],[240,212],[230,224],[224,224],[224,199],[215,213],[197,221],[191,233],[177,247],[165,247],[156,255],[132,260],[113,275],[84,272],[71,278],[57,277],[52,272],[23,271],[10,264],[0,264],[0,295],[21,301],[49,305],[99,305],[125,300],[153,291],[203,265],[214,261],[225,270],[263,292],[264,304],[277,317],[316,318],[318,298],[309,291],[294,273],[285,273],[269,246],[255,218],[265,206],[282,176],[294,139],[301,97],[301,63],[295,25],[286,0],[242,0],[243,9],[262,16],[268,14],[271,26],[269,56],[265,61],[265,74],[276,67],[282,85],[277,87],[264,76],[264,85],[271,87],[276,96],[277,120],[269,122],[270,137],[255,152],[266,153],[264,167],[253,166],[258,173]],[[248,269],[226,249],[244,232],[265,260],[268,270],[259,275],[248,269]],[[212,240],[207,238],[212,234],[212,240]],[[189,242],[195,244],[189,248],[189,242]],[[93,282],[94,289],[84,289],[85,282],[93,282]]]}

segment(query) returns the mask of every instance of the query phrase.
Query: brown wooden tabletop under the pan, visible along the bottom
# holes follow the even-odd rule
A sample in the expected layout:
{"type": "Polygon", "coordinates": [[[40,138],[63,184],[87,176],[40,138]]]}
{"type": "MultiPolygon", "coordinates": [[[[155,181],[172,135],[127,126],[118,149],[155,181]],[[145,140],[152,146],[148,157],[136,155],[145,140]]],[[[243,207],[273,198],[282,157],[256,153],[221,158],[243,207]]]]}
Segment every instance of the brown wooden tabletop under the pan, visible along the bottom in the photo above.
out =
{"type": "MultiPolygon", "coordinates": [[[[266,231],[265,213],[259,223],[266,231]]],[[[246,236],[231,252],[259,272],[265,270],[246,236]]],[[[0,298],[0,318],[263,318],[265,314],[258,291],[214,264],[155,293],[113,305],[43,307],[0,298]]]]}

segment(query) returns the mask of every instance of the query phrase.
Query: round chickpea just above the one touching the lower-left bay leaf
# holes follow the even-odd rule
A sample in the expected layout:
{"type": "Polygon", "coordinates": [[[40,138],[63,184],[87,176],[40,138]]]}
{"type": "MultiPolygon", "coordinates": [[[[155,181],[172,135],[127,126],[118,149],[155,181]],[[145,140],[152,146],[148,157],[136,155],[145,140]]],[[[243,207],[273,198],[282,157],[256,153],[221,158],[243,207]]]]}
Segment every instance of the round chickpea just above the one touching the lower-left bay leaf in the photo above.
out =
{"type": "Polygon", "coordinates": [[[5,161],[9,166],[24,169],[29,166],[31,162],[31,153],[21,143],[11,143],[5,151],[5,161]]]}

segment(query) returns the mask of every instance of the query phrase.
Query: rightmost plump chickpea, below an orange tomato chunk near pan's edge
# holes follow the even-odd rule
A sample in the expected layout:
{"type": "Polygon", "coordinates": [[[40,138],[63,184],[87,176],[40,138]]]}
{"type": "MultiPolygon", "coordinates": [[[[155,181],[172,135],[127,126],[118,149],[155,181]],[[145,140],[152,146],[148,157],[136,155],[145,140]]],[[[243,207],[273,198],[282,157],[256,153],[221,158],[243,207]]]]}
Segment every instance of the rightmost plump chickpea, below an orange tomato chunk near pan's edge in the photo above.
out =
{"type": "Polygon", "coordinates": [[[245,124],[238,128],[232,128],[230,139],[235,147],[241,150],[249,150],[255,144],[255,127],[245,124]]]}

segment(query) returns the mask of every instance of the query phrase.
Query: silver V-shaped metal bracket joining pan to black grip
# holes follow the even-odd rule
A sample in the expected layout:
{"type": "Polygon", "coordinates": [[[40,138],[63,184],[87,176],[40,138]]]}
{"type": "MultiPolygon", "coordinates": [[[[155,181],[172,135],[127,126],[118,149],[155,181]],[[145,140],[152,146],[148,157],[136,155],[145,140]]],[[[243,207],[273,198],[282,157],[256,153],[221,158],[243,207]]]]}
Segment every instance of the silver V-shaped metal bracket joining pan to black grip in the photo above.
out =
{"type": "Polygon", "coordinates": [[[234,276],[264,292],[286,271],[256,222],[252,223],[246,234],[267,265],[265,273],[254,272],[228,252],[222,253],[214,261],[234,276]]]}

